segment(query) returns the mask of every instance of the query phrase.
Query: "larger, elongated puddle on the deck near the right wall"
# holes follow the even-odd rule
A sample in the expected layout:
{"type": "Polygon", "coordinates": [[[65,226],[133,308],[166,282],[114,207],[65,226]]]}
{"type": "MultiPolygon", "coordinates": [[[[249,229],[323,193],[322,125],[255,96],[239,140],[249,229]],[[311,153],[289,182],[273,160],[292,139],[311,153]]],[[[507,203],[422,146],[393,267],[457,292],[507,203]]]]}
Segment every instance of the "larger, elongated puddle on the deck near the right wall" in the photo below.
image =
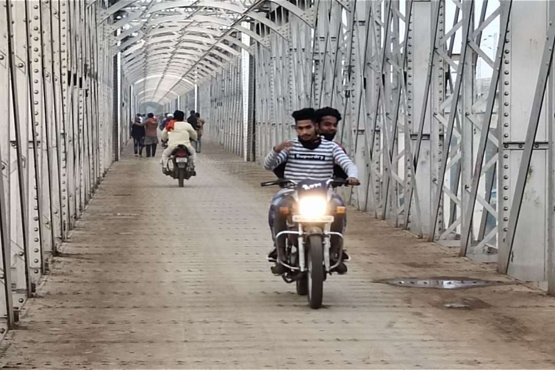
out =
{"type": "Polygon", "coordinates": [[[466,289],[466,288],[479,288],[485,286],[505,285],[506,282],[481,280],[473,278],[398,278],[388,280],[377,280],[377,283],[384,283],[389,285],[410,287],[410,288],[435,288],[435,289],[466,289]]]}

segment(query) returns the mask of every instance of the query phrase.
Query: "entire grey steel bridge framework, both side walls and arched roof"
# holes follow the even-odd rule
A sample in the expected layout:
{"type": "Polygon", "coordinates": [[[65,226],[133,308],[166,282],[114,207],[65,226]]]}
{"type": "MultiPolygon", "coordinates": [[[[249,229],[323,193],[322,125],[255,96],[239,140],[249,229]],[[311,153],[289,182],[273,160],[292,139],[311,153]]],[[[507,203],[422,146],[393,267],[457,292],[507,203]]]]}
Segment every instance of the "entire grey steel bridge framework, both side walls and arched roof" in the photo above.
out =
{"type": "Polygon", "coordinates": [[[555,293],[553,2],[2,4],[0,333],[147,103],[259,162],[293,110],[335,107],[351,204],[555,293]]]}

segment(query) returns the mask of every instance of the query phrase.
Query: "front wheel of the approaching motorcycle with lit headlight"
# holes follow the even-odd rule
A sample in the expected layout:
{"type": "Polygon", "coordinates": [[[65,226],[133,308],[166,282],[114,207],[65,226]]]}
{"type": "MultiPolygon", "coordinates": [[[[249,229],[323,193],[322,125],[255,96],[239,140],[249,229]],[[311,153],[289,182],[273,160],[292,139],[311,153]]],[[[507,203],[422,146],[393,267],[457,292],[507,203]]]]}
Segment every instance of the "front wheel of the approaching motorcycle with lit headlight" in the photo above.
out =
{"type": "Polygon", "coordinates": [[[321,235],[309,236],[309,250],[306,257],[307,299],[310,308],[320,308],[324,296],[324,243],[321,235]]]}

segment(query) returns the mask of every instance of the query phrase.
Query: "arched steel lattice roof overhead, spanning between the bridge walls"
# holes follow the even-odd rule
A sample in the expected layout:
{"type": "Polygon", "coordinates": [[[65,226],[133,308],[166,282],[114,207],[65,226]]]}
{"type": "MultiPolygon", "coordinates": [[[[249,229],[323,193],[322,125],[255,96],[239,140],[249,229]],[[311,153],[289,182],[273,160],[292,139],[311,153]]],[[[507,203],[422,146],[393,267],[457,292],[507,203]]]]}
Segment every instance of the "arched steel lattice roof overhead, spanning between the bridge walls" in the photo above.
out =
{"type": "MultiPolygon", "coordinates": [[[[227,63],[245,50],[254,49],[232,32],[250,37],[269,47],[269,39],[241,22],[256,22],[265,29],[287,40],[284,28],[259,13],[257,8],[265,0],[175,0],[139,1],[120,0],[105,11],[100,19],[127,11],[127,17],[109,25],[120,28],[118,36],[110,36],[115,43],[111,49],[122,55],[122,69],[135,86],[143,86],[153,99],[169,94],[185,93],[199,80],[220,73],[227,63]],[[157,76],[147,78],[149,75],[157,76]],[[173,77],[170,77],[173,76],[173,77]],[[183,80],[187,82],[182,82],[183,80]]],[[[311,24],[310,16],[287,0],[271,0],[302,21],[311,24]]]]}

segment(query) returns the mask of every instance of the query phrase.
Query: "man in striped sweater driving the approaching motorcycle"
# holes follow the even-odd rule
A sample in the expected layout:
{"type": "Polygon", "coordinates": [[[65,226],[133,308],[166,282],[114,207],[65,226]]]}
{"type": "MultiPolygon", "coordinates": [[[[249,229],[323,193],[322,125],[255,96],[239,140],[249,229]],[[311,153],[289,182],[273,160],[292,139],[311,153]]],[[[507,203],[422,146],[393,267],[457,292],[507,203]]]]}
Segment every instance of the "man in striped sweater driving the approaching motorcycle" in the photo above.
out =
{"type": "MultiPolygon", "coordinates": [[[[352,163],[345,151],[338,144],[322,138],[317,133],[315,110],[312,108],[297,110],[293,112],[292,117],[295,119],[295,129],[298,137],[274,146],[273,150],[264,159],[264,168],[274,170],[280,164],[285,163],[285,179],[326,181],[332,178],[334,163],[336,163],[348,174],[347,181],[349,185],[359,185],[356,165],[352,163]]],[[[276,210],[290,204],[292,198],[288,194],[292,191],[292,189],[281,189],[270,202],[268,221],[274,246],[279,248],[282,257],[285,256],[285,239],[280,238],[276,241],[275,235],[286,230],[286,217],[276,212],[276,210]]],[[[337,222],[332,224],[332,231],[342,232],[343,227],[344,222],[338,217],[337,222]]],[[[339,252],[339,246],[337,243],[332,244],[332,259],[338,258],[337,252],[339,252]]],[[[274,252],[270,252],[270,256],[273,254],[274,252]]],[[[286,268],[278,262],[271,270],[276,275],[286,272],[286,268]]],[[[345,273],[347,266],[340,263],[336,267],[336,271],[345,273]]]]}

